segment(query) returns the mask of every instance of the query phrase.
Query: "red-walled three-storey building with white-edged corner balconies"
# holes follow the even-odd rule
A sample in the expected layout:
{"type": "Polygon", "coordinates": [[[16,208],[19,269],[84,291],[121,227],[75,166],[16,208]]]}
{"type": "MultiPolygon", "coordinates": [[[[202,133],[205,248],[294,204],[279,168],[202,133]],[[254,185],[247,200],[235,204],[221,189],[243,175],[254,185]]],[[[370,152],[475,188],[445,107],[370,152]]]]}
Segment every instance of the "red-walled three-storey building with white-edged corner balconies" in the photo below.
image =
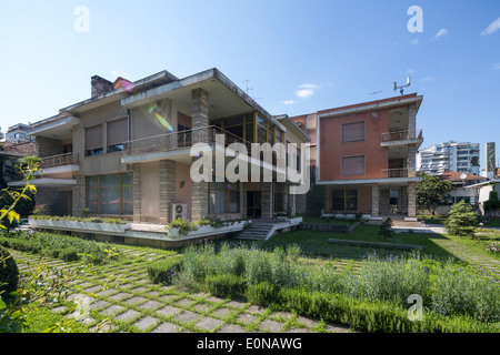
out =
{"type": "Polygon", "coordinates": [[[313,126],[316,182],[327,186],[326,214],[362,213],[370,219],[417,216],[417,94],[341,106],[292,118],[313,126]]]}

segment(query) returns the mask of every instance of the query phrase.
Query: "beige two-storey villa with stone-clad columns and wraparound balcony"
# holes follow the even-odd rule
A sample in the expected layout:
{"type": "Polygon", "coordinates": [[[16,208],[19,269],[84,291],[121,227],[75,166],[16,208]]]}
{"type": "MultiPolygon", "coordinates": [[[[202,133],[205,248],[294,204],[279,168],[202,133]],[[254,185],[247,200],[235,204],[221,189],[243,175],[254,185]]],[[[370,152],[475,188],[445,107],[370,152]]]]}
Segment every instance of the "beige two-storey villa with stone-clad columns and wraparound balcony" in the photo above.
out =
{"type": "Polygon", "coordinates": [[[266,161],[250,160],[261,175],[269,169],[271,181],[232,183],[223,174],[231,160],[222,155],[222,166],[217,165],[217,151],[213,180],[193,182],[191,165],[206,153],[193,156],[191,148],[213,148],[219,138],[227,150],[231,143],[310,141],[287,115],[268,113],[218,69],[182,79],[162,71],[136,82],[96,75],[90,99],[30,129],[43,169],[33,182],[37,203],[49,213],[80,216],[88,209],[92,215],[159,225],[179,215],[191,221],[294,215],[291,183],[277,180],[277,159],[288,152],[273,151],[267,168],[266,161]]]}

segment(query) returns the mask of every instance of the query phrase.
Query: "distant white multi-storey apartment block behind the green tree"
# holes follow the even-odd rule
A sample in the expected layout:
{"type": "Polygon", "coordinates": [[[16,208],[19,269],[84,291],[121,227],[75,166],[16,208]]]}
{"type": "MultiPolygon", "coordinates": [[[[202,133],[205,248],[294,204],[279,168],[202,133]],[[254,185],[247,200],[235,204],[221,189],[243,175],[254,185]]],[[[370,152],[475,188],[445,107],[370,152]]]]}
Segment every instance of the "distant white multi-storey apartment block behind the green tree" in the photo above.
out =
{"type": "Polygon", "coordinates": [[[479,143],[449,141],[418,152],[418,170],[437,175],[449,171],[479,175],[479,143]]]}

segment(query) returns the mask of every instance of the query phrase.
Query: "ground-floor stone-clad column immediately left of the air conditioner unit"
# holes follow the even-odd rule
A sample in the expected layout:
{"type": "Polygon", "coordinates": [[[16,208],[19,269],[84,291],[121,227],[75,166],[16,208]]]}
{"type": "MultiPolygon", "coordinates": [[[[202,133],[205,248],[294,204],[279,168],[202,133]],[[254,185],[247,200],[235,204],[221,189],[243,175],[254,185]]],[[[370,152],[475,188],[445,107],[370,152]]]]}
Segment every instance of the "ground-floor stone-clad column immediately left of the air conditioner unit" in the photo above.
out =
{"type": "Polygon", "coordinates": [[[172,222],[172,203],[176,202],[176,162],[160,161],[160,223],[172,222]]]}

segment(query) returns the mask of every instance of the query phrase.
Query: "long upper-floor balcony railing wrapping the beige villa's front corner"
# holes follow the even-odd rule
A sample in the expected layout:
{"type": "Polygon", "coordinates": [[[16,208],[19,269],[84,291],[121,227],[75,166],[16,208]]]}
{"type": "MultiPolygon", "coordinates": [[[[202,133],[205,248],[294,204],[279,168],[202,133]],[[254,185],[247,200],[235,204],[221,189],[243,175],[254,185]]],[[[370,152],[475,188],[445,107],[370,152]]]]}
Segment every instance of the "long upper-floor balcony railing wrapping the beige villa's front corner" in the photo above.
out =
{"type": "Polygon", "coordinates": [[[167,152],[180,148],[190,148],[196,143],[216,143],[217,134],[224,135],[224,145],[231,143],[246,144],[250,151],[250,142],[237,136],[219,126],[210,125],[188,131],[172,132],[139,140],[126,142],[123,144],[123,155],[137,155],[143,153],[167,152]]]}

